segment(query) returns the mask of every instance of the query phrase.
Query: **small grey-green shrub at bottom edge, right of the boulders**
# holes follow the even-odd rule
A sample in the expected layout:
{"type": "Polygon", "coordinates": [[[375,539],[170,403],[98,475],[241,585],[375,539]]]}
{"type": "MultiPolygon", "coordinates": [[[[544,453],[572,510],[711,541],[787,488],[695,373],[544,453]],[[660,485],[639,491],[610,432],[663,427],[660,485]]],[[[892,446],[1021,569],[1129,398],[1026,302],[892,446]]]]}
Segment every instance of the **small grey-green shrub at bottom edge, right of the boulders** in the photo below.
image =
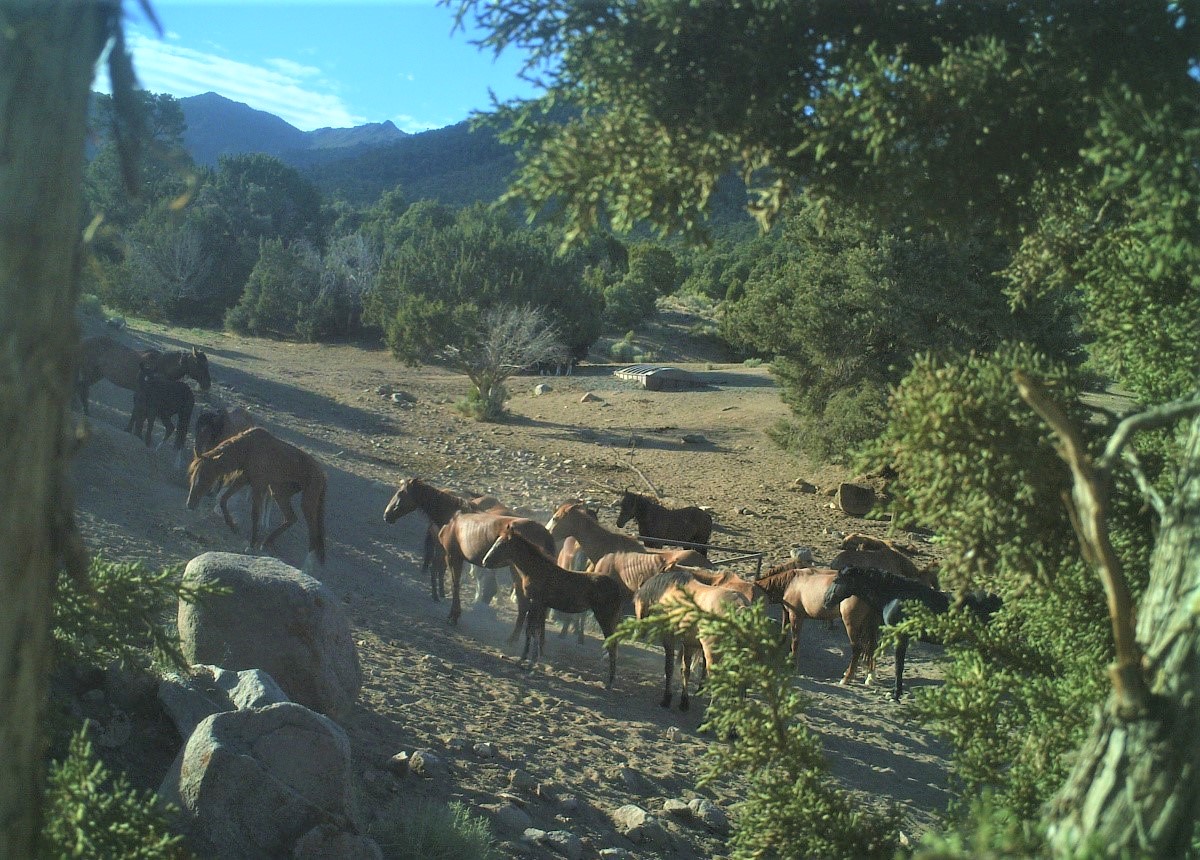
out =
{"type": "Polygon", "coordinates": [[[380,823],[372,825],[371,836],[385,858],[408,860],[499,860],[487,822],[470,813],[458,801],[449,805],[426,801],[396,806],[380,823]]]}

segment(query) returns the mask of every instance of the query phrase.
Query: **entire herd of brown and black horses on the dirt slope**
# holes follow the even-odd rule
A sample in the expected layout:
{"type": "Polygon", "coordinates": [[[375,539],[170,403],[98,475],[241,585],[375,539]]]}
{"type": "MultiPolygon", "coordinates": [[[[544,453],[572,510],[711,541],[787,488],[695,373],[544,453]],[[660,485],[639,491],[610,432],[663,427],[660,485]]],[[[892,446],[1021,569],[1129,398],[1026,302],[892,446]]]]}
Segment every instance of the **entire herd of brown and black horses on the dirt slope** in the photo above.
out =
{"type": "MultiPolygon", "coordinates": [[[[77,393],[86,411],[88,390],[101,378],[131,389],[133,408],[126,429],[140,435],[144,423],[149,446],[155,420],[162,421],[161,444],[174,433],[181,458],[194,408],[194,396],[182,381],[184,377],[194,379],[202,391],[209,389],[211,379],[203,351],[196,348],[174,353],[137,351],[100,336],[86,338],[82,344],[77,393]]],[[[187,507],[194,510],[205,495],[220,488],[218,507],[234,531],[238,527],[228,503],[235,493],[248,489],[252,549],[274,548],[276,539],[296,522],[292,499],[299,493],[308,531],[304,569],[311,572],[314,563],[324,565],[326,481],[320,464],[310,453],[256,426],[253,416],[245,410],[204,410],[197,416],[194,451],[187,474],[187,507]],[[283,513],[283,522],[274,530],[265,524],[268,494],[283,513]]],[[[853,679],[862,662],[866,663],[866,682],[870,684],[880,627],[899,623],[905,601],[917,601],[935,613],[947,612],[952,605],[950,596],[937,589],[936,570],[919,570],[908,555],[888,541],[851,535],[827,566],[792,560],[749,581],[716,570],[708,559],[713,518],[707,511],[667,507],[631,491],[622,494],[617,507],[617,528],[635,521],[644,542],[606,527],[596,511],[578,500],[563,503],[542,525],[505,507],[494,497],[462,497],[418,477],[401,481],[384,507],[384,519],[395,523],[420,511],[428,521],[422,570],[430,572],[434,601],[444,596],[444,576],[449,573],[451,624],[457,624],[462,614],[460,591],[466,564],[512,570],[517,619],[509,642],[524,630],[521,660],[528,658],[529,668],[538,663],[545,646],[546,617],[551,609],[590,613],[607,639],[629,607],[636,617],[644,618],[652,612],[671,613],[690,603],[725,614],[766,601],[782,608],[797,669],[804,621],[840,618],[851,644],[850,664],[841,684],[853,679]]],[[[482,600],[491,596],[485,594],[482,600]]],[[[1000,607],[994,595],[968,594],[958,602],[973,609],[983,621],[1000,607]]],[[[580,625],[582,639],[582,618],[580,625]]],[[[694,657],[703,657],[703,673],[719,658],[714,650],[716,643],[702,636],[692,624],[676,626],[671,635],[664,636],[661,644],[665,656],[661,704],[670,708],[672,703],[678,646],[683,681],[679,708],[686,710],[694,657]]],[[[893,691],[896,699],[902,692],[907,644],[907,637],[901,636],[893,691]]],[[[607,651],[606,687],[611,687],[617,672],[616,646],[607,645],[607,651]]]]}

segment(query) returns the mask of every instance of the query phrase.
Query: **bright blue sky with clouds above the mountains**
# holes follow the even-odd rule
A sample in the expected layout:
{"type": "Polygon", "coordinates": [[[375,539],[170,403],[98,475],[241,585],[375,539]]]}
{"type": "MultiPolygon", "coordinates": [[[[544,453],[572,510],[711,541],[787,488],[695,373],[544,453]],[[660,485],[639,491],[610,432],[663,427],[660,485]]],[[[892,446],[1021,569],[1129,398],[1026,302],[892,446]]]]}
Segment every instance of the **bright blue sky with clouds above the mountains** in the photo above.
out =
{"type": "MultiPolygon", "coordinates": [[[[522,58],[498,59],[452,32],[433,0],[152,0],[157,36],[125,4],[139,84],[184,98],[218,92],[296,128],[391,120],[407,132],[442,128],[500,100],[535,95],[522,58]]],[[[106,72],[96,89],[107,91],[106,72]]]]}

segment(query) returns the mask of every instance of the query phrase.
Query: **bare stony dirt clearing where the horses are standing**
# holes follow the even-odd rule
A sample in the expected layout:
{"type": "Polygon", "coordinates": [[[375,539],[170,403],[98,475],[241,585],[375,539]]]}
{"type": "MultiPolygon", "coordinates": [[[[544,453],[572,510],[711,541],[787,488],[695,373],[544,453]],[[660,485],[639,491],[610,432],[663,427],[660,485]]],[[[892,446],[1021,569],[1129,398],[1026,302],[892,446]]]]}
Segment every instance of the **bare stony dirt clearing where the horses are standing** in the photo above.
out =
{"type": "MultiPolygon", "coordinates": [[[[794,545],[812,547],[820,560],[834,554],[845,533],[886,534],[884,523],[832,510],[829,497],[797,485],[803,479],[826,489],[846,476],[833,467],[802,467],[767,438],[786,408],[766,368],[708,363],[688,351],[694,347],[685,339],[665,345],[658,359],[696,373],[707,383],[703,390],[644,391],[613,378],[614,366],[584,365],[570,378],[511,380],[510,417],[484,425],[454,409],[467,391],[462,377],[406,368],[382,350],[142,324],[121,337],[199,345],[211,363],[210,401],[250,409],[324,464],[329,563],[318,576],[343,601],[360,644],[365,682],[344,728],[368,820],[424,798],[457,799],[490,814],[512,792],[534,826],[580,836],[586,858],[607,847],[650,856],[658,849],[614,834],[613,810],[634,802],[659,813],[664,800],[697,792],[728,808],[743,790],[737,780],[697,789],[710,739],[697,732],[698,709],[659,708],[661,650],[623,646],[616,688],[606,692],[594,625],[586,645],[551,633],[534,673],[516,664],[520,643],[506,643],[515,618],[506,601],[467,611],[460,626],[449,626],[448,603],[432,602],[419,575],[424,522],[419,515],[395,525],[383,522],[401,477],[491,493],[542,521],[563,500],[584,498],[600,505],[601,519],[612,525],[619,491],[647,492],[644,476],[665,497],[710,507],[714,543],[761,551],[766,564],[786,560],[794,545]],[[550,391],[534,396],[539,383],[550,391]],[[394,398],[392,391],[412,401],[394,398]],[[589,391],[599,399],[581,402],[589,391]],[[492,742],[496,757],[473,752],[480,741],[492,742]],[[415,748],[440,753],[446,772],[425,780],[386,772],[389,757],[415,748]],[[542,783],[540,795],[510,788],[516,769],[542,783]],[[568,795],[575,802],[564,801],[568,795]]],[[[152,452],[124,432],[130,401],[130,392],[108,383],[92,389],[94,433],[74,468],[90,548],[154,565],[182,564],[208,549],[245,552],[245,536],[230,533],[210,505],[185,509],[173,452],[152,452]]],[[[203,405],[200,396],[197,409],[203,405]]],[[[901,536],[923,549],[918,564],[932,560],[929,543],[901,536]]],[[[305,547],[300,522],[281,539],[280,555],[299,565],[305,547]]],[[[738,570],[750,575],[754,567],[738,570]]],[[[502,584],[506,579],[502,576],[502,584]]],[[[797,684],[811,696],[808,718],[834,772],[870,798],[901,804],[910,832],[929,826],[948,798],[944,747],[906,717],[884,684],[864,687],[859,678],[848,688],[836,685],[848,656],[840,627],[808,624],[803,649],[797,684]]],[[[934,649],[916,646],[910,667],[913,687],[936,682],[934,649]]],[[[890,668],[883,658],[884,679],[890,668]]],[[[161,774],[134,776],[152,784],[161,774]]],[[[673,835],[672,856],[724,853],[722,838],[702,826],[662,820],[673,835]]],[[[510,854],[550,854],[522,846],[520,832],[499,824],[496,831],[510,854]]]]}

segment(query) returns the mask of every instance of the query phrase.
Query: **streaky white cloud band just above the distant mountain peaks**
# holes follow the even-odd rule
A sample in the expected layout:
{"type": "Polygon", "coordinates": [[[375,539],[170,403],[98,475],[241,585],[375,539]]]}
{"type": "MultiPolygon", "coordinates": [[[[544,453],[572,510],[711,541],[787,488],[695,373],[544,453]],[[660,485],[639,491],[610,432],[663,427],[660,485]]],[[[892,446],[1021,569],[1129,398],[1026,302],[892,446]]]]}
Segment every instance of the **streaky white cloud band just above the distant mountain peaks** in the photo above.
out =
{"type": "Polygon", "coordinates": [[[151,92],[169,92],[176,98],[220,92],[275,114],[301,131],[348,128],[367,121],[329,91],[330,84],[320,79],[316,66],[283,59],[256,66],[137,32],[130,34],[128,47],[138,82],[151,92]]]}

